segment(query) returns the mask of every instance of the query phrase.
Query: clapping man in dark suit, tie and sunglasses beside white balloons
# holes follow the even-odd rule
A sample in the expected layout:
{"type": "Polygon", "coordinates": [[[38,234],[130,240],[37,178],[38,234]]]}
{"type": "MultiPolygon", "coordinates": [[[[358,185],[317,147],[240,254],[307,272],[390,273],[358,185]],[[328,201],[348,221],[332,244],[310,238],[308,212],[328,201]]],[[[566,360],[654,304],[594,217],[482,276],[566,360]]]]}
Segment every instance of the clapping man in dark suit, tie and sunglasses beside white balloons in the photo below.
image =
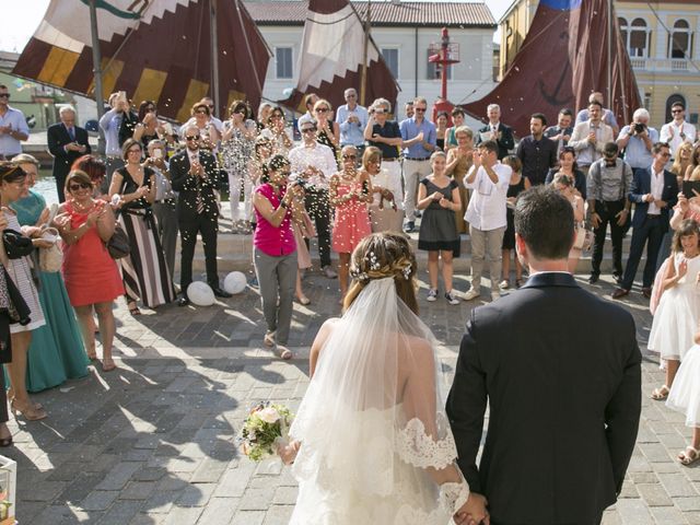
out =
{"type": "Polygon", "coordinates": [[[192,282],[192,258],[197,234],[201,235],[207,265],[207,282],[218,298],[231,294],[219,287],[217,270],[217,233],[219,231],[219,206],[214,189],[218,187],[218,171],[214,156],[199,149],[199,128],[188,126],[185,129],[187,148],[171,159],[171,180],[173,189],[179,191],[177,200],[177,221],[180,236],[180,278],[182,296],[177,304],[189,304],[187,287],[192,282]]]}

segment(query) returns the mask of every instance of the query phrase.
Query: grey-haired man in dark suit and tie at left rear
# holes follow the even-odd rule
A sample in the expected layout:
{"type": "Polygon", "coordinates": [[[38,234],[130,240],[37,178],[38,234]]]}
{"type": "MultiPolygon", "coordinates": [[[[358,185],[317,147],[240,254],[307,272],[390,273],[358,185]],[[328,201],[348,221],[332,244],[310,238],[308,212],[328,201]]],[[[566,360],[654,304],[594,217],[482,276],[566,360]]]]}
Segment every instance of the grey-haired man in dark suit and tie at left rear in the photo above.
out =
{"type": "Polygon", "coordinates": [[[88,131],[75,126],[75,110],[71,106],[62,106],[59,110],[61,121],[46,130],[48,151],[54,155],[54,178],[59,202],[63,202],[66,177],[73,161],[91,152],[88,131]]]}

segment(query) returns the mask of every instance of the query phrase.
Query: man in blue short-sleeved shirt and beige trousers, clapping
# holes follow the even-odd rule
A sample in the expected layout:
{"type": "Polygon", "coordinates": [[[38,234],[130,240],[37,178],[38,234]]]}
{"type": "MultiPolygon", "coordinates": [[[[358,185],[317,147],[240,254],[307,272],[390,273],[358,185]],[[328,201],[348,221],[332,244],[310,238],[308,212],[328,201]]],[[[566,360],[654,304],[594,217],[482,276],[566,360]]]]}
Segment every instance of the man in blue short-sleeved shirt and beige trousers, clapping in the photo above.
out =
{"type": "Polygon", "coordinates": [[[435,125],[425,120],[428,101],[422,96],[413,100],[413,117],[401,121],[399,129],[404,140],[404,203],[406,209],[406,233],[416,228],[416,192],[418,182],[432,171],[430,155],[435,151],[438,132],[435,125]]]}

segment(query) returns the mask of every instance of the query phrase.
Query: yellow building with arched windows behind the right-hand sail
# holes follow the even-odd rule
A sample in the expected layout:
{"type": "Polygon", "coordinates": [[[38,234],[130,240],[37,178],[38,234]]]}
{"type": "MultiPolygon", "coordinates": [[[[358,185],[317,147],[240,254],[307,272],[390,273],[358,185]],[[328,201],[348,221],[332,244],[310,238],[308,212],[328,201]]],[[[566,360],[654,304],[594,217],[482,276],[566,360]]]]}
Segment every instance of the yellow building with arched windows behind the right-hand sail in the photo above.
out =
{"type": "MultiPolygon", "coordinates": [[[[539,0],[515,0],[499,21],[500,78],[523,45],[538,3],[539,0]]],[[[652,126],[661,129],[669,121],[670,105],[677,101],[686,104],[687,119],[698,124],[700,1],[615,1],[614,4],[640,98],[652,115],[652,126]]]]}

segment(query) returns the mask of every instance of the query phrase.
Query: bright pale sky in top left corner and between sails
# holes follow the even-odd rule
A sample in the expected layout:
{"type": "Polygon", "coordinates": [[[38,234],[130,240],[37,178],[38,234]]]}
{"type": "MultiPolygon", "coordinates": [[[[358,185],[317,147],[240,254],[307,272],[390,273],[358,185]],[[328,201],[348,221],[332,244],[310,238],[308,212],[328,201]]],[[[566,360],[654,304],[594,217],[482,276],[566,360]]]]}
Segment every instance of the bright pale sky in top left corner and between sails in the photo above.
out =
{"type": "MultiPolygon", "coordinates": [[[[485,0],[498,20],[513,0],[485,0]]],[[[21,52],[34,31],[39,25],[49,0],[4,0],[3,20],[0,32],[0,50],[21,52]],[[9,9],[8,9],[9,8],[9,9]]]]}

